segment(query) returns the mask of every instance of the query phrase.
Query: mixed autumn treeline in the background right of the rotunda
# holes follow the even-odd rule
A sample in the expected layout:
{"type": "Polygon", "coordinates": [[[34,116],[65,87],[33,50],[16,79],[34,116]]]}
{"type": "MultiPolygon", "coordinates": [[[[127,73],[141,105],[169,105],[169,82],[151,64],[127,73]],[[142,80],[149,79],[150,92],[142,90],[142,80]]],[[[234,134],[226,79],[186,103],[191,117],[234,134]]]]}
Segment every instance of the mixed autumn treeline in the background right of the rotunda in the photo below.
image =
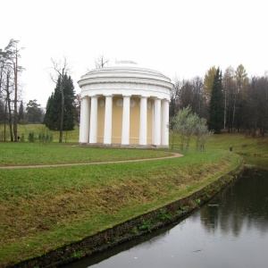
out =
{"type": "Polygon", "coordinates": [[[249,78],[242,64],[236,70],[227,68],[223,74],[222,71],[217,74],[217,70],[219,68],[210,68],[204,79],[175,79],[170,116],[189,106],[193,113],[204,117],[208,125],[211,125],[213,113],[221,113],[218,121],[222,130],[264,136],[268,128],[268,75],[249,78]],[[221,93],[216,99],[215,88],[221,93]],[[220,111],[213,111],[215,106],[221,107],[220,111]]]}

